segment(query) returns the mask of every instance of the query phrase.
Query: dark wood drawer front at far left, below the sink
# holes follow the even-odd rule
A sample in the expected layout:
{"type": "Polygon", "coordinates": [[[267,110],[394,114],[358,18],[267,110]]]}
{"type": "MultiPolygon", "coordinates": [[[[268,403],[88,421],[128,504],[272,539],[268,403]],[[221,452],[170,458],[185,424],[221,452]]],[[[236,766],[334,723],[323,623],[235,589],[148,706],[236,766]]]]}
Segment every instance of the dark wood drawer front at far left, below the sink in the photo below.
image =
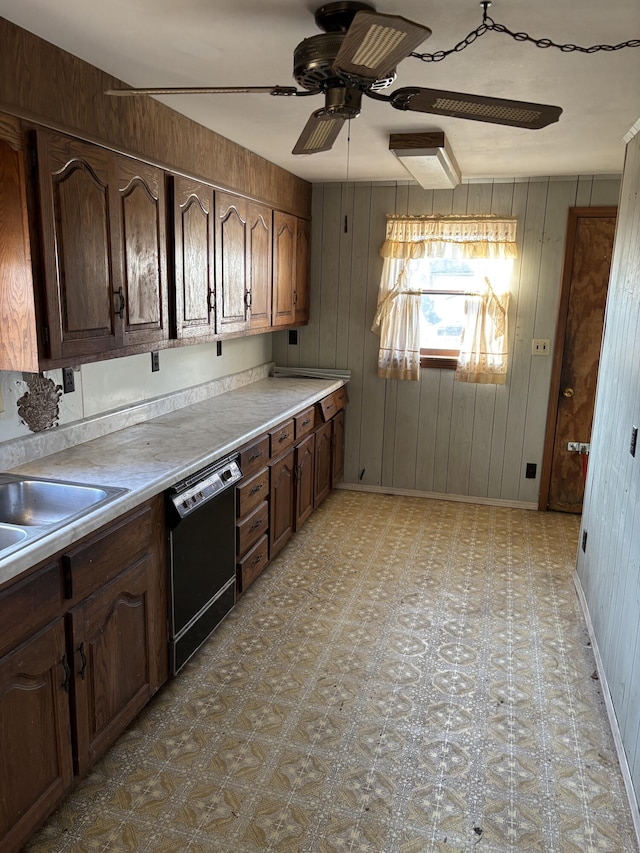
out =
{"type": "Polygon", "coordinates": [[[0,593],[0,655],[17,646],[62,612],[60,563],[43,566],[0,593]]]}

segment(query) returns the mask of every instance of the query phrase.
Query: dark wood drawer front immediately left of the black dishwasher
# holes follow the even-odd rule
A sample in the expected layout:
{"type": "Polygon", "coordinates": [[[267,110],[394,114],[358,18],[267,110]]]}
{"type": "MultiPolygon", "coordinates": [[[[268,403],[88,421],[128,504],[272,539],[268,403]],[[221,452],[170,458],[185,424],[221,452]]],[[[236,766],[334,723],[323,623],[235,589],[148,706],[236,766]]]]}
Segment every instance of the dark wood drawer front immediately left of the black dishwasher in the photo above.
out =
{"type": "Polygon", "coordinates": [[[62,558],[66,598],[85,598],[133,565],[152,547],[152,535],[152,511],[146,505],[69,551],[62,558]]]}

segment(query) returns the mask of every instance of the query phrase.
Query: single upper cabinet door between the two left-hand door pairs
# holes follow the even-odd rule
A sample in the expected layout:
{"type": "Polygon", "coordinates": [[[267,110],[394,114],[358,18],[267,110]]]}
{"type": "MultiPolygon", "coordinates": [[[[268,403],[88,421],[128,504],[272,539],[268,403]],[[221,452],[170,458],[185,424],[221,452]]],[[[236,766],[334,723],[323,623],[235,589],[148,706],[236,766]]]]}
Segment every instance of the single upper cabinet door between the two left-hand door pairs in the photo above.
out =
{"type": "Polygon", "coordinates": [[[178,338],[215,332],[213,187],[173,177],[175,310],[178,338]]]}

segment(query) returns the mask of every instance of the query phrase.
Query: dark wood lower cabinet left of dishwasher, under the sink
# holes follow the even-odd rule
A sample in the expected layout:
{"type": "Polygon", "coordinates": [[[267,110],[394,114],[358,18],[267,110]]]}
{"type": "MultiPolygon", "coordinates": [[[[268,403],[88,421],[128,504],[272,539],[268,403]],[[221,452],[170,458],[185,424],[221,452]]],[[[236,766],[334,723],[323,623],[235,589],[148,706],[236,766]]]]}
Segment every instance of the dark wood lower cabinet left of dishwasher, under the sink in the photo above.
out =
{"type": "Polygon", "coordinates": [[[19,850],[168,677],[158,497],[0,592],[0,849],[19,850]]]}

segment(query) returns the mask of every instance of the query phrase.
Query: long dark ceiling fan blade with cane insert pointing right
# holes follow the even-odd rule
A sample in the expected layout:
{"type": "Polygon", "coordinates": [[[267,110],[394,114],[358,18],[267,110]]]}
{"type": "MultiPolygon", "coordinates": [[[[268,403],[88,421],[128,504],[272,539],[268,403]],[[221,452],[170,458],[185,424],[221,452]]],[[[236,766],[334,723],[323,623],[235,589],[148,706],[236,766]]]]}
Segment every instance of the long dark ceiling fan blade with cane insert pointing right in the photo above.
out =
{"type": "Polygon", "coordinates": [[[527,101],[510,101],[484,95],[466,95],[462,92],[445,92],[441,89],[417,87],[397,89],[390,96],[391,105],[398,110],[468,118],[511,127],[537,130],[558,121],[561,107],[533,104],[527,101]]]}

